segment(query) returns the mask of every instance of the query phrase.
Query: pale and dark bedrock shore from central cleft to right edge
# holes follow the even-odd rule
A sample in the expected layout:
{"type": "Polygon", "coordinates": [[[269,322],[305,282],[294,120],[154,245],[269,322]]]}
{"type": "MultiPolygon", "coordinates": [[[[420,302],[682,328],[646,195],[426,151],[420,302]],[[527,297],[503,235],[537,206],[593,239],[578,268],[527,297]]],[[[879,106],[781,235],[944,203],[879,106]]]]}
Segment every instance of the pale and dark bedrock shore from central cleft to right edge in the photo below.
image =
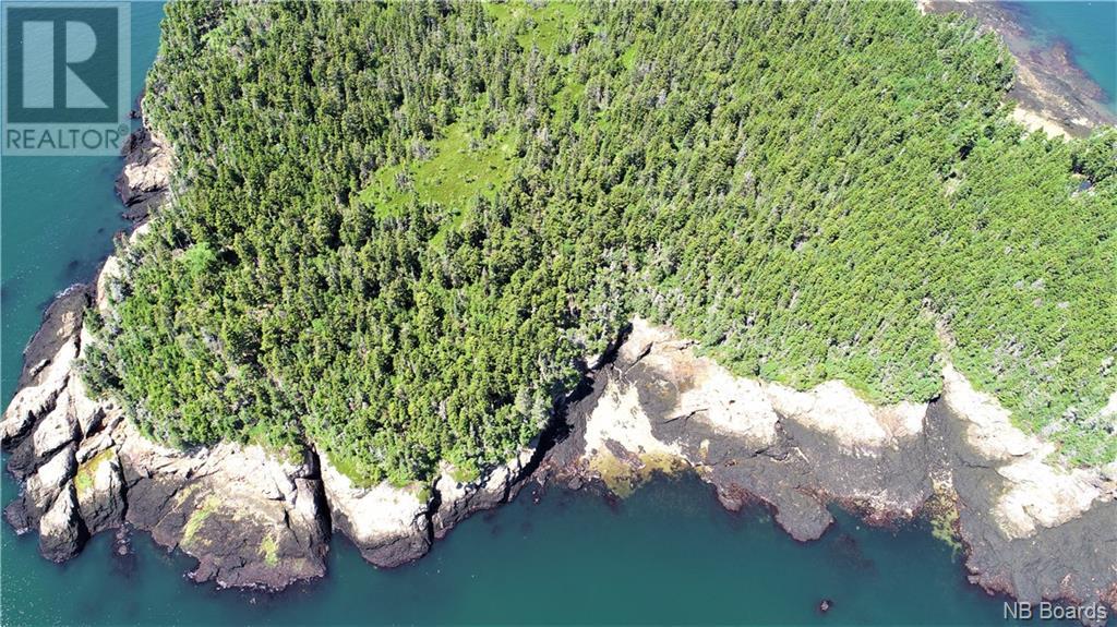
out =
{"type": "Polygon", "coordinates": [[[541,479],[626,494],[652,472],[690,469],[737,510],[767,504],[799,540],[840,504],[869,522],[907,519],[933,494],[954,502],[971,580],[1022,600],[1117,596],[1117,485],[1048,462],[949,364],[929,405],[875,406],[840,382],[808,392],[734,377],[669,329],[636,320],[541,479]]]}

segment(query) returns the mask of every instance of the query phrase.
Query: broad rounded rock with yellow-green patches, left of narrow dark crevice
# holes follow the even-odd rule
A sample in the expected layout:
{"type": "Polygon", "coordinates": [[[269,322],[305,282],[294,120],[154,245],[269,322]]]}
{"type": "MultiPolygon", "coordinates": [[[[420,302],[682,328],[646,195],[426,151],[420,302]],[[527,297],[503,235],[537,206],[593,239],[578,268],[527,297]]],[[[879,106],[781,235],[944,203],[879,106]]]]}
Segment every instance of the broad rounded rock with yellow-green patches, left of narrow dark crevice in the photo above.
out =
{"type": "Polygon", "coordinates": [[[114,440],[128,522],[198,558],[194,579],[283,588],[325,573],[330,530],[313,456],[292,463],[236,444],[184,454],[126,422],[114,440]]]}

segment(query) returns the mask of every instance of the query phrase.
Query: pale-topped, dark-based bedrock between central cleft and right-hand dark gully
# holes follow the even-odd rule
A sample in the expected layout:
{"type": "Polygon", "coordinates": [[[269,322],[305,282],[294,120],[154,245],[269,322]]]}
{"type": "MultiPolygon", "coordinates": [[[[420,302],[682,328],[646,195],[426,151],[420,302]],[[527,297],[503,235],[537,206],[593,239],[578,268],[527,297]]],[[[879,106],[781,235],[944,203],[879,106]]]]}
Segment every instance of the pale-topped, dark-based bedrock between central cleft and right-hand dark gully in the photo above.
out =
{"type": "Polygon", "coordinates": [[[840,382],[796,392],[736,377],[640,319],[617,355],[572,407],[562,445],[581,448],[571,467],[614,492],[691,467],[727,507],[767,503],[801,540],[827,529],[831,501],[910,517],[929,493],[925,405],[876,407],[840,382]]]}

